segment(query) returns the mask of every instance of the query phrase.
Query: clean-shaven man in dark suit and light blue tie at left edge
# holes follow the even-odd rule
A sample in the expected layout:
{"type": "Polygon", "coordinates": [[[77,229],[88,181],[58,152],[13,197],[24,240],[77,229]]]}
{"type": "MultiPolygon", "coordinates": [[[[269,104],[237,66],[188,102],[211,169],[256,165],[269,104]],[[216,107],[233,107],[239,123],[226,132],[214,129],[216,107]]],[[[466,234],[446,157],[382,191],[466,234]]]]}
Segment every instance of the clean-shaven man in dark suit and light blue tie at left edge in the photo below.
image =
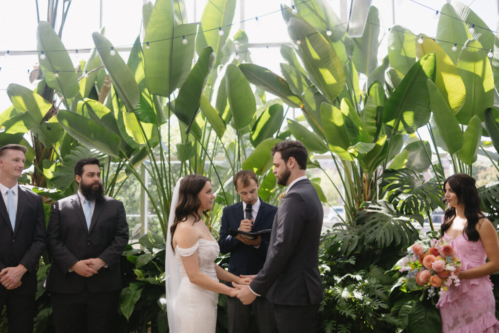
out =
{"type": "Polygon", "coordinates": [[[0,311],[7,306],[8,332],[32,333],[36,270],[45,250],[41,197],[20,187],[26,147],[0,148],[0,311]]]}

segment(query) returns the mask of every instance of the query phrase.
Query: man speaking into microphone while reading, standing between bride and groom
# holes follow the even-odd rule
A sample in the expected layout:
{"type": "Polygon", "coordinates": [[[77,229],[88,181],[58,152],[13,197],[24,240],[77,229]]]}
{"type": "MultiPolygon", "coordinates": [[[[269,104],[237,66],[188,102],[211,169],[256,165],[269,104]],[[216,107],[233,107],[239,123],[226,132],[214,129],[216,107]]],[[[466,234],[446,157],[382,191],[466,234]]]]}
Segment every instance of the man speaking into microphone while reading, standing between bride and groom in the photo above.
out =
{"type": "MultiPolygon", "coordinates": [[[[272,228],[277,207],[258,197],[258,178],[251,170],[234,175],[234,187],[241,202],[224,208],[220,228],[220,252],[230,253],[229,272],[234,275],[255,275],[263,267],[268,249],[268,237],[250,240],[244,236],[231,236],[229,229],[258,232],[272,228]]],[[[227,283],[228,286],[232,285],[227,283]]],[[[275,333],[273,307],[264,297],[257,297],[251,305],[244,305],[236,297],[227,297],[229,333],[245,333],[249,328],[253,310],[259,332],[275,333]]]]}

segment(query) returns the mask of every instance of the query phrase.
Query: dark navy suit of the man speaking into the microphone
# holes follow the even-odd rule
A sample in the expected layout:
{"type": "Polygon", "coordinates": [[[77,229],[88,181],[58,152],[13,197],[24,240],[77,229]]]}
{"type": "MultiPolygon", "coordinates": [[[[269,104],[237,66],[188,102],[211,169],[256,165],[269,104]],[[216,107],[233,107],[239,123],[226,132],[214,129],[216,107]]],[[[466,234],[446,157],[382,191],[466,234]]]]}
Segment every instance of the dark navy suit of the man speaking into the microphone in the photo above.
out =
{"type": "MultiPolygon", "coordinates": [[[[254,217],[252,232],[271,229],[277,207],[264,203],[260,199],[258,214],[254,217]]],[[[224,208],[222,214],[222,226],[220,228],[220,252],[231,253],[229,259],[229,272],[239,275],[257,274],[263,264],[268,249],[268,238],[262,238],[260,246],[255,249],[252,245],[246,245],[235,237],[229,235],[229,228],[239,229],[241,221],[244,220],[243,202],[224,208]]],[[[231,283],[227,283],[232,287],[231,283]]],[[[229,333],[246,332],[250,319],[251,306],[243,305],[237,298],[227,299],[227,315],[229,322],[229,333]]],[[[258,298],[253,302],[253,311],[260,332],[275,332],[275,321],[271,305],[264,298],[258,298]]]]}

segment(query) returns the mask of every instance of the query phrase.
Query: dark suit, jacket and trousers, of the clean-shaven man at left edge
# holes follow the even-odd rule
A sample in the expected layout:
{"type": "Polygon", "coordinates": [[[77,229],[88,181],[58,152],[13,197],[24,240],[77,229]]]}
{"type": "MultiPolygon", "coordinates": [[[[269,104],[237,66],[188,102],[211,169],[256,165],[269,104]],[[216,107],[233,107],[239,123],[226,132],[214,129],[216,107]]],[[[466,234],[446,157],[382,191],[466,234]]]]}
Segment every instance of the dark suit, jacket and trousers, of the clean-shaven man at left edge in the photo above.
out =
{"type": "Polygon", "coordinates": [[[7,305],[9,332],[33,332],[36,270],[45,249],[45,217],[39,195],[20,186],[17,195],[13,231],[0,195],[0,271],[22,264],[27,272],[16,289],[6,290],[0,285],[0,309],[7,305]]]}

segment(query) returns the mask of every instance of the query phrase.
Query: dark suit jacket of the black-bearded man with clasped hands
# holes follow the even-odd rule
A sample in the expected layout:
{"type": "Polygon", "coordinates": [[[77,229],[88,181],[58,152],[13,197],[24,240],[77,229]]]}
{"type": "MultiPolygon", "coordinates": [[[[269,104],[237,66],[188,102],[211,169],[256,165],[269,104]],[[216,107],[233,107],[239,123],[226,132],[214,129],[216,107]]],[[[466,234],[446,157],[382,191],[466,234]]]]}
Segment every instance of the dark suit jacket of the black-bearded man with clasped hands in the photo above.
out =
{"type": "Polygon", "coordinates": [[[52,205],[47,226],[47,245],[52,266],[46,288],[63,294],[81,293],[85,287],[91,293],[120,290],[120,257],[128,244],[128,224],[121,201],[104,196],[95,203],[90,230],[78,194],[52,205]],[[89,278],[69,269],[79,260],[102,259],[102,267],[89,278]]]}

